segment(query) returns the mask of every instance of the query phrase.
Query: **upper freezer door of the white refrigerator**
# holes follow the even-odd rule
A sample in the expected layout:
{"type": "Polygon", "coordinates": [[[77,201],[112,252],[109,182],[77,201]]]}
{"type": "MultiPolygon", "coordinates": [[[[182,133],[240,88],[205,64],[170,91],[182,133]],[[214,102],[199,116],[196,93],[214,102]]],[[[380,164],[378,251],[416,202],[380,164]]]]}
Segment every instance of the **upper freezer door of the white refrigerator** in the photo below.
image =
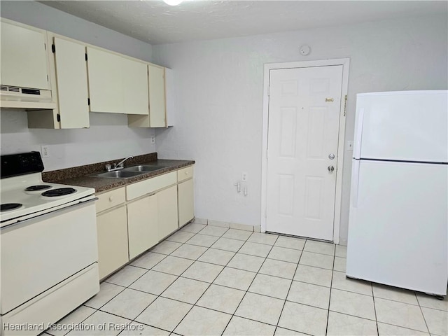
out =
{"type": "Polygon", "coordinates": [[[448,91],[358,94],[355,158],[448,162],[448,91]]]}

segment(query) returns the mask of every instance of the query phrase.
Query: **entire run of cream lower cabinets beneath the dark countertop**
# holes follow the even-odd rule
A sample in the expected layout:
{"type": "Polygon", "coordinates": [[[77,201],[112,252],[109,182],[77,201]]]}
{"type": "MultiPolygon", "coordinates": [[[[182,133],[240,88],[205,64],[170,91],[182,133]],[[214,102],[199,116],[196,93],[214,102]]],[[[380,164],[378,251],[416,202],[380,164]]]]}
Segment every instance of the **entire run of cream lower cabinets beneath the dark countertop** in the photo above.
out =
{"type": "Polygon", "coordinates": [[[99,279],[193,219],[193,166],[97,195],[99,279]]]}

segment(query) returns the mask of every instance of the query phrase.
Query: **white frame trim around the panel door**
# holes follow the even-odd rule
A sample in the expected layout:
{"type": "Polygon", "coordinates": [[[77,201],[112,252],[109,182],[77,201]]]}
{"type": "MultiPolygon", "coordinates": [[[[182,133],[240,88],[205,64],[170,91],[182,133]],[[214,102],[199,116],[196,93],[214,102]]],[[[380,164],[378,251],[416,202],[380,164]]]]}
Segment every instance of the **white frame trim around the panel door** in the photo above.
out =
{"type": "Polygon", "coordinates": [[[341,223],[341,203],[342,203],[342,169],[344,165],[344,143],[345,143],[345,121],[344,109],[346,101],[344,96],[349,89],[349,58],[318,59],[313,61],[297,61],[285,63],[265,64],[264,85],[263,85],[263,121],[262,121],[262,165],[261,165],[261,232],[266,232],[267,216],[267,132],[269,117],[269,71],[273,69],[308,68],[314,66],[342,65],[342,92],[339,116],[339,137],[337,144],[337,169],[336,169],[336,192],[335,192],[335,215],[333,222],[333,242],[339,244],[339,230],[341,223]]]}

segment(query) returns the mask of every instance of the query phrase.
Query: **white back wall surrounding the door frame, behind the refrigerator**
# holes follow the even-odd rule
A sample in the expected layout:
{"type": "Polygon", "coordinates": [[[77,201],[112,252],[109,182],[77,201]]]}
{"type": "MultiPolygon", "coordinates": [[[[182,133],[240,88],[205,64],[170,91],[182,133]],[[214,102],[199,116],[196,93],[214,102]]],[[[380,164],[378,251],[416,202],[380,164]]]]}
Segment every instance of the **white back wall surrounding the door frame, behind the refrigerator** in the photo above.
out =
{"type": "MultiPolygon", "coordinates": [[[[193,158],[195,215],[260,225],[263,64],[350,57],[346,140],[356,93],[447,89],[447,18],[358,25],[153,45],[153,61],[174,69],[176,126],[158,130],[160,158],[193,158]],[[307,44],[304,57],[299,47],[307,44]],[[248,172],[248,196],[233,184],[248,172]]],[[[340,167],[339,167],[340,168],[340,167]]],[[[341,242],[347,238],[351,153],[343,167],[341,242]]]]}

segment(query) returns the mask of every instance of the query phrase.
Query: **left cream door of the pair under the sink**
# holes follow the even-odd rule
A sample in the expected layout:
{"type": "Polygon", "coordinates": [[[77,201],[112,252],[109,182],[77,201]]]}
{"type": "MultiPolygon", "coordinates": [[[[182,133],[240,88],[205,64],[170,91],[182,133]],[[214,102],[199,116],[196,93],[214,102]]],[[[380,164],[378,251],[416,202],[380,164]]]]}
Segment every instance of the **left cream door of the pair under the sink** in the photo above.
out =
{"type": "Polygon", "coordinates": [[[137,257],[158,243],[158,196],[147,196],[127,204],[129,257],[137,257]]]}

